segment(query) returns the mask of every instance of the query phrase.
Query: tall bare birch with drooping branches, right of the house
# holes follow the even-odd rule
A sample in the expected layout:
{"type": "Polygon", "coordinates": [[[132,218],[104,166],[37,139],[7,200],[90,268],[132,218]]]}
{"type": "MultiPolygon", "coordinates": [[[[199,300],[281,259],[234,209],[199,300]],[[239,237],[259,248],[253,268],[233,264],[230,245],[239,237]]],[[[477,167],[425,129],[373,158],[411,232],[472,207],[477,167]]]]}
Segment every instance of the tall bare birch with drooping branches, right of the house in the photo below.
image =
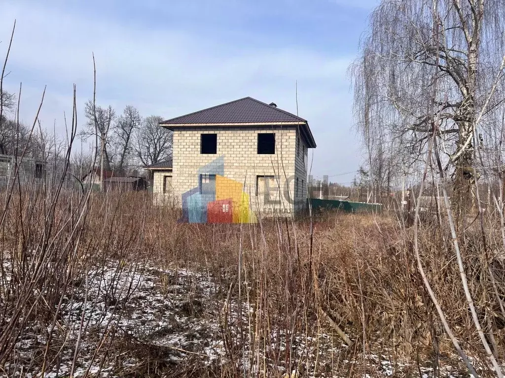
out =
{"type": "Polygon", "coordinates": [[[492,118],[505,98],[503,9],[505,0],[383,1],[351,68],[359,130],[369,151],[387,136],[400,164],[409,166],[426,150],[430,119],[440,119],[437,146],[458,203],[467,201],[479,178],[473,164],[477,124],[492,118]],[[439,90],[431,114],[433,69],[439,90]]]}

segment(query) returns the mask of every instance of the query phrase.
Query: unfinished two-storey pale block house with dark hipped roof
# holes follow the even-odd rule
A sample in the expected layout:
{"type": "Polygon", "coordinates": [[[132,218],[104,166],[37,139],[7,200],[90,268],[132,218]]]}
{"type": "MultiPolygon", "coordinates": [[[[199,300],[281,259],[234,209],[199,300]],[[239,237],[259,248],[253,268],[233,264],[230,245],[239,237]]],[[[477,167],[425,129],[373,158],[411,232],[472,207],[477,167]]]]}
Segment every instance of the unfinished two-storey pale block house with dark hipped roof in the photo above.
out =
{"type": "Polygon", "coordinates": [[[181,221],[255,222],[291,216],[307,204],[306,119],[251,97],[161,122],[173,131],[173,159],[153,172],[155,201],[175,199],[181,221]]]}

